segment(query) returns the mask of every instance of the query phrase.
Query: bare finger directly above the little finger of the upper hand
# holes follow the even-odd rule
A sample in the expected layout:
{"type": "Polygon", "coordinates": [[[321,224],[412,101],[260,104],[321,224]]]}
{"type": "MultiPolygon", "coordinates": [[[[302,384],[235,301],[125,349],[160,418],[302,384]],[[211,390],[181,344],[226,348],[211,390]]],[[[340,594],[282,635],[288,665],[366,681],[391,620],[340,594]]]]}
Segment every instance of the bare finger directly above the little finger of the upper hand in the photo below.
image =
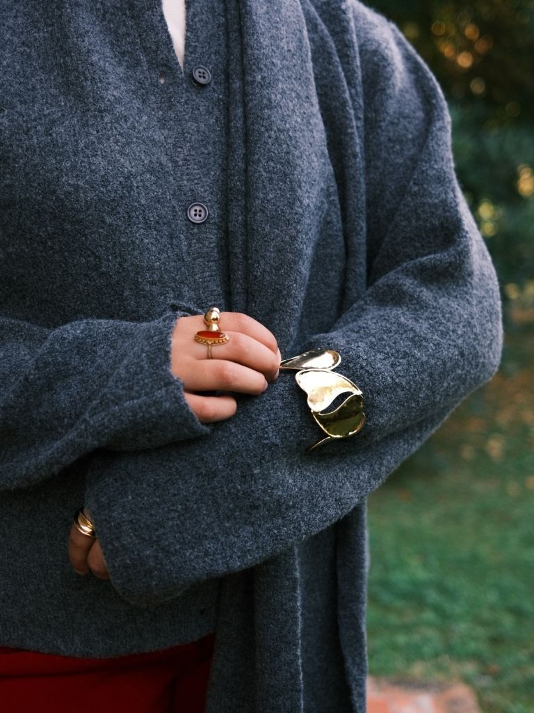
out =
{"type": "MultiPolygon", "coordinates": [[[[258,396],[266,390],[265,376],[226,359],[202,359],[184,379],[187,391],[236,391],[258,396]]],[[[217,397],[215,397],[217,398],[217,397]]]]}

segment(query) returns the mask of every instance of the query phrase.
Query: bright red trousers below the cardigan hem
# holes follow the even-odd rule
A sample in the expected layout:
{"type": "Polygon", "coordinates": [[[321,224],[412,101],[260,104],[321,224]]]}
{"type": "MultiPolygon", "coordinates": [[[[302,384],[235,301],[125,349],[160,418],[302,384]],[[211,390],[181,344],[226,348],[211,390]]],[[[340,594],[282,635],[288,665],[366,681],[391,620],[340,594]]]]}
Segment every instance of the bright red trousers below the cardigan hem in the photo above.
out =
{"type": "Polygon", "coordinates": [[[0,647],[0,711],[204,713],[214,640],[112,659],[0,647]]]}

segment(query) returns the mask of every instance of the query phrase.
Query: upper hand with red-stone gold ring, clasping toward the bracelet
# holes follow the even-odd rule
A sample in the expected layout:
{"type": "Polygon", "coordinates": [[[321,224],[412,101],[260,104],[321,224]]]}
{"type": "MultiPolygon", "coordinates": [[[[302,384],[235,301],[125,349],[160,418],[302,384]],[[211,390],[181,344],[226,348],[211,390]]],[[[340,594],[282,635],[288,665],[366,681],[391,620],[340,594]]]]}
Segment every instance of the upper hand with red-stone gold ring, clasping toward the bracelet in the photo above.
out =
{"type": "Polygon", "coordinates": [[[184,382],[184,396],[199,421],[223,421],[234,416],[236,399],[230,394],[203,396],[199,391],[234,391],[258,396],[269,381],[278,378],[281,356],[276,339],[256,319],[238,312],[221,312],[221,331],[226,344],[207,347],[194,341],[195,332],[206,329],[203,317],[180,317],[172,333],[171,371],[184,382]]]}

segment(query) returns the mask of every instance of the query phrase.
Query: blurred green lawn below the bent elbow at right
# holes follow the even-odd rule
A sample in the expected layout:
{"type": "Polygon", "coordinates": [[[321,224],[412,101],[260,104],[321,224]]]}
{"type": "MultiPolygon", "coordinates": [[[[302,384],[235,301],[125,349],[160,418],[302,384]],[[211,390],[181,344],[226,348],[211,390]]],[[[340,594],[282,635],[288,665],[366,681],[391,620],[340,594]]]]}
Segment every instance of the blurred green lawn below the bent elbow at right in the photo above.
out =
{"type": "Polygon", "coordinates": [[[370,672],[534,713],[534,329],[372,494],[370,672]]]}

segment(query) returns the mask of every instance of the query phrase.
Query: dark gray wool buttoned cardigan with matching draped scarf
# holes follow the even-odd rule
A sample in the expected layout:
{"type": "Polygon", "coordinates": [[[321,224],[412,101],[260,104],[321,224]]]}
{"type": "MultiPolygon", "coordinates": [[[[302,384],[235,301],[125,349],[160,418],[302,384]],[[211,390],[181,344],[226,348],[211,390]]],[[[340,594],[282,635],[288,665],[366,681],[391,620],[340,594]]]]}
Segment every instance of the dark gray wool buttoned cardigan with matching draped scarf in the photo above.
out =
{"type": "Polygon", "coordinates": [[[160,0],[3,7],[0,645],[216,631],[208,713],[362,713],[366,498],[496,371],[496,275],[394,26],[357,0],[187,11],[182,73],[160,0]],[[337,349],[364,431],[305,453],[288,374],[201,425],[169,340],[214,300],[285,357],[337,349]],[[110,582],[68,564],[83,503],[110,582]]]}

